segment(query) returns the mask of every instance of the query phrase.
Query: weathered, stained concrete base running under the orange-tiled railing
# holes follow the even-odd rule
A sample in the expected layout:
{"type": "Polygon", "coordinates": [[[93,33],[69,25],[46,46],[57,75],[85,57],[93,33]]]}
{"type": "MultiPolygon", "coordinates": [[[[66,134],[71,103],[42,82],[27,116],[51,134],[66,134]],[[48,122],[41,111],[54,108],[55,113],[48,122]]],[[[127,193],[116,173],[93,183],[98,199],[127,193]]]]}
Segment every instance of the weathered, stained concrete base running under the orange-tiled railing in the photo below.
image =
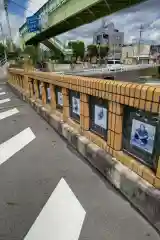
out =
{"type": "Polygon", "coordinates": [[[37,101],[28,98],[20,89],[9,84],[17,95],[40,114],[89,163],[107,178],[136,209],[160,232],[160,191],[121,164],[97,145],[81,136],[37,101]]]}

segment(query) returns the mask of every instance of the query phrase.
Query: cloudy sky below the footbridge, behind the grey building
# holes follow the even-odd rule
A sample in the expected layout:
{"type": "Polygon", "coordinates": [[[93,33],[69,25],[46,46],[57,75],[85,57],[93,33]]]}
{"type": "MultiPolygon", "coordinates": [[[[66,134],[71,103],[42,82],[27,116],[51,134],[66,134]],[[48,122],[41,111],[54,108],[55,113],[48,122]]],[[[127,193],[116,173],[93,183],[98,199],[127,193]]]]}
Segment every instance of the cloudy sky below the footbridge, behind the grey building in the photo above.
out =
{"type": "MultiPolygon", "coordinates": [[[[115,27],[124,32],[125,42],[139,38],[139,28],[142,24],[144,40],[160,41],[160,0],[150,0],[129,9],[119,11],[105,17],[106,22],[113,22],[115,27]]],[[[83,25],[70,32],[59,35],[61,40],[84,39],[88,44],[92,42],[94,32],[101,26],[101,19],[93,23],[83,25]]]]}

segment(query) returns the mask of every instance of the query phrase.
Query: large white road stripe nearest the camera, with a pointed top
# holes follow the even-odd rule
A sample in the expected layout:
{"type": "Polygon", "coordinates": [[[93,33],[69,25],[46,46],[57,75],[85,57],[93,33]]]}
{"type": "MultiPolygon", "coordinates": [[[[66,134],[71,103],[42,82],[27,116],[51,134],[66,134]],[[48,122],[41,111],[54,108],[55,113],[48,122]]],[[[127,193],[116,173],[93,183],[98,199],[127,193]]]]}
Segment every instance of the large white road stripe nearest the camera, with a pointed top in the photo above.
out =
{"type": "Polygon", "coordinates": [[[78,240],[85,215],[62,178],[24,240],[78,240]]]}

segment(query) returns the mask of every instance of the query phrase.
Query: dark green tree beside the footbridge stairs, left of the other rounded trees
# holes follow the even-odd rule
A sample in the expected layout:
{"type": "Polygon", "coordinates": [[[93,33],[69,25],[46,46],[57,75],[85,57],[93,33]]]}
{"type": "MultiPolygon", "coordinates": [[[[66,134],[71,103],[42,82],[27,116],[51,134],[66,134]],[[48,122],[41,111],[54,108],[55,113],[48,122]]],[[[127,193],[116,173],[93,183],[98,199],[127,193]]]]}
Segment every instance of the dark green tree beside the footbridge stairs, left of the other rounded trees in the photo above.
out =
{"type": "Polygon", "coordinates": [[[73,57],[75,57],[76,61],[78,57],[84,58],[85,45],[83,41],[71,41],[68,43],[68,47],[73,50],[73,57]]]}

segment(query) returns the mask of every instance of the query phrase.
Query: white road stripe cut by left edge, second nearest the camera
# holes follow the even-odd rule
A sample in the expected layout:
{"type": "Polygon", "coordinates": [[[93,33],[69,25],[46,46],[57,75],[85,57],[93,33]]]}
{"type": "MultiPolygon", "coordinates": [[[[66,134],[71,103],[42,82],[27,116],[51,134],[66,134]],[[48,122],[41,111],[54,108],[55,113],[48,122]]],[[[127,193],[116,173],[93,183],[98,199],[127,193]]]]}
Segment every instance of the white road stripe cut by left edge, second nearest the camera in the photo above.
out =
{"type": "Polygon", "coordinates": [[[29,144],[36,136],[30,128],[26,128],[14,137],[0,145],[0,165],[12,157],[16,152],[20,151],[29,144]]]}

